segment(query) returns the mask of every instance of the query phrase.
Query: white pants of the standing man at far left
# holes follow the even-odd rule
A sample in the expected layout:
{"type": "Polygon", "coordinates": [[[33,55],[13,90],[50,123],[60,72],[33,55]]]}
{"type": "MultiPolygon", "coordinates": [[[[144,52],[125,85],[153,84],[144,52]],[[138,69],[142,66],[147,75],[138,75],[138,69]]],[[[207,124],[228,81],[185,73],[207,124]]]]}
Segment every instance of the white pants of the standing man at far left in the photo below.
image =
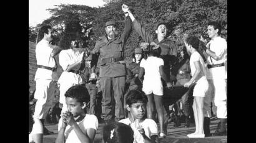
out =
{"type": "Polygon", "coordinates": [[[46,119],[47,113],[54,99],[54,82],[52,80],[37,79],[34,98],[37,99],[33,118],[46,119]]]}

